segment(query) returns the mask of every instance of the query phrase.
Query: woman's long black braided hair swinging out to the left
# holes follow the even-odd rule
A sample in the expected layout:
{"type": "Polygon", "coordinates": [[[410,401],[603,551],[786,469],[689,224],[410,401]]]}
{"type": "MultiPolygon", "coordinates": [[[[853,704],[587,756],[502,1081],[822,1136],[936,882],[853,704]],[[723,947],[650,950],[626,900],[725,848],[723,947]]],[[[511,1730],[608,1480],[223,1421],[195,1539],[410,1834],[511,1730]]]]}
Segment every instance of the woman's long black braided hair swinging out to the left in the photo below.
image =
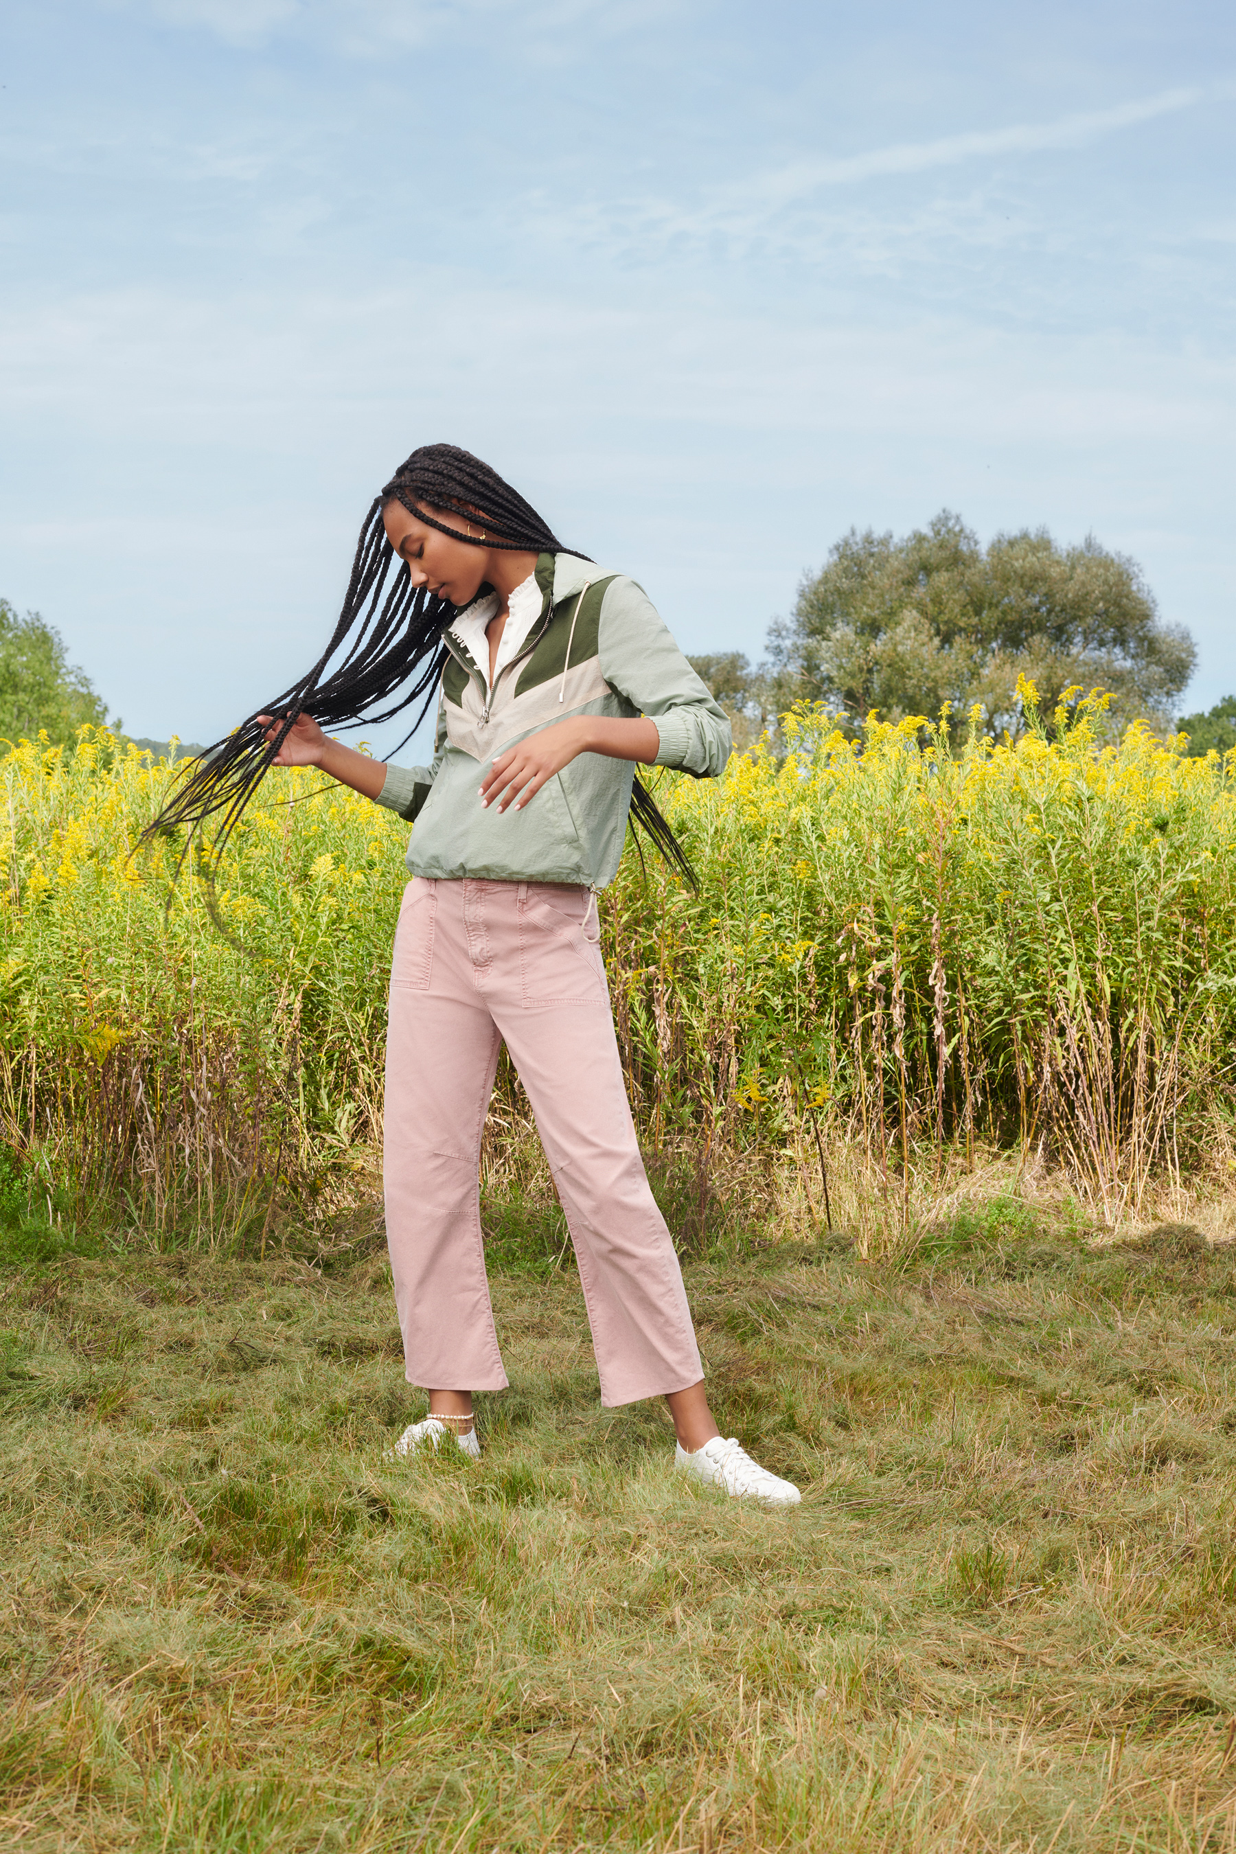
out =
{"type": "MultiPolygon", "coordinates": [[[[400,747],[411,740],[434,701],[448,654],[443,630],[454,619],[456,608],[424,586],[413,586],[406,560],[397,567],[387,590],[397,556],[382,512],[391,501],[402,502],[417,521],[469,547],[589,558],[574,547],[563,547],[536,508],[471,451],[460,451],[458,445],[421,445],[369,504],[343,610],[313,669],[263,708],[254,710],[224,740],[208,747],[145,836],[165,834],[178,825],[204,825],[208,818],[217,818],[219,827],[211,845],[211,858],[217,858],[302,714],[311,714],[326,730],[372,727],[391,721],[424,697],[400,747]],[[469,523],[480,521],[486,538],[463,534],[437,521],[426,504],[461,515],[469,523]],[[271,740],[267,727],[258,719],[263,714],[276,717],[271,740]]],[[[639,779],[632,786],[630,812],[665,860],[697,886],[682,845],[639,779]]]]}

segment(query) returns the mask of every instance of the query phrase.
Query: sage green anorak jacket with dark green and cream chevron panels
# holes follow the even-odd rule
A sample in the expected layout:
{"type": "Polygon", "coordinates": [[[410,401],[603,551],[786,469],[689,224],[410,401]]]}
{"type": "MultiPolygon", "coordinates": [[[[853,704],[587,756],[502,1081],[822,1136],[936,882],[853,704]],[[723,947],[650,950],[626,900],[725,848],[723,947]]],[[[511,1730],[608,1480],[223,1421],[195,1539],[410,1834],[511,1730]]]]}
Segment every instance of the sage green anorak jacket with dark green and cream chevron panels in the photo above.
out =
{"type": "MultiPolygon", "coordinates": [[[[486,768],[528,734],[576,714],[647,716],[658,766],[715,779],[730,723],[634,580],[574,554],[541,554],[541,616],[489,688],[448,627],[432,766],[387,766],[380,805],[415,823],[413,875],[435,881],[604,888],[623,855],[636,768],[580,753],[523,810],[480,803],[486,768]]],[[[463,616],[463,614],[460,614],[463,616]]]]}

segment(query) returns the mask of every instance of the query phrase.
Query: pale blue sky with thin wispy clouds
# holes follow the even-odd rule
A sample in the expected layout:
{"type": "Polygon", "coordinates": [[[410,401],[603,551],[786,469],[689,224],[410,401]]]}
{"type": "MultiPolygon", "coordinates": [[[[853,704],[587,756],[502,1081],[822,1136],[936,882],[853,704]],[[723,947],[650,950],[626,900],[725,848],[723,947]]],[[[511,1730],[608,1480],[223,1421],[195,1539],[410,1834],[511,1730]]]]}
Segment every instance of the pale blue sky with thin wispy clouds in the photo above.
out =
{"type": "Polygon", "coordinates": [[[0,593],[132,732],[306,667],[430,439],[691,651],[949,506],[1236,690],[1230,7],[9,0],[0,83],[0,593]]]}

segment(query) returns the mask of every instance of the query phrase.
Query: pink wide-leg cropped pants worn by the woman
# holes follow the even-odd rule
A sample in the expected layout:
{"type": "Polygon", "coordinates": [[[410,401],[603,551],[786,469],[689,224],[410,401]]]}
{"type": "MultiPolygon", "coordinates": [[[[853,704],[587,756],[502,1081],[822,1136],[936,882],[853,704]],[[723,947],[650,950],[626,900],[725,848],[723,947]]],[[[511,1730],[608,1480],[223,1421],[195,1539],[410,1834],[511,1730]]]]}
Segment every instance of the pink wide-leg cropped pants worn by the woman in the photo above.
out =
{"type": "Polygon", "coordinates": [[[404,892],[385,1055],[385,1229],[408,1381],[502,1390],[480,1233],[480,1133],[506,1042],[567,1214],[606,1407],[704,1376],[636,1142],[586,888],[404,892]]]}

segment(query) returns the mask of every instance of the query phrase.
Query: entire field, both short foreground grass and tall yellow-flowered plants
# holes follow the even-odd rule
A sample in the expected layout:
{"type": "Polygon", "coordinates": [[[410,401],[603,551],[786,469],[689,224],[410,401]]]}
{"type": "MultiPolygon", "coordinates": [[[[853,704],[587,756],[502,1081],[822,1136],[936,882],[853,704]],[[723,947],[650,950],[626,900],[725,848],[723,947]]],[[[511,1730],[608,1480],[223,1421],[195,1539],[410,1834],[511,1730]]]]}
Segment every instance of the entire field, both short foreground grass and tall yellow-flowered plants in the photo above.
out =
{"type": "Polygon", "coordinates": [[[699,894],[604,897],[710,1394],[791,1513],[600,1411],[510,1068],[513,1389],[480,1463],[387,1461],[406,827],[280,775],[215,868],[143,847],[165,764],[7,755],[0,1848],[1236,1854],[1236,760],[1091,710],[791,716],[658,784],[699,894]]]}

